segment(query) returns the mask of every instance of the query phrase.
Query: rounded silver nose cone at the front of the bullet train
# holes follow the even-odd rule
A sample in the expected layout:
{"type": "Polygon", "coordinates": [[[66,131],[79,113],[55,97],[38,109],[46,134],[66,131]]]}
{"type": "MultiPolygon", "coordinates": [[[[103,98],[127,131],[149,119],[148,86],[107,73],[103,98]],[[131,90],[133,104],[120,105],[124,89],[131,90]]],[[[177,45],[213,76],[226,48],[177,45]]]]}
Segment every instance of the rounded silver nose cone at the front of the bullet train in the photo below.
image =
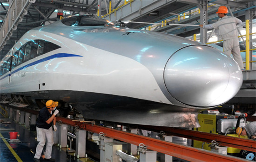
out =
{"type": "Polygon", "coordinates": [[[231,57],[215,48],[195,45],[170,57],[164,69],[164,82],[168,92],[183,104],[211,107],[236,95],[243,75],[231,57]]]}

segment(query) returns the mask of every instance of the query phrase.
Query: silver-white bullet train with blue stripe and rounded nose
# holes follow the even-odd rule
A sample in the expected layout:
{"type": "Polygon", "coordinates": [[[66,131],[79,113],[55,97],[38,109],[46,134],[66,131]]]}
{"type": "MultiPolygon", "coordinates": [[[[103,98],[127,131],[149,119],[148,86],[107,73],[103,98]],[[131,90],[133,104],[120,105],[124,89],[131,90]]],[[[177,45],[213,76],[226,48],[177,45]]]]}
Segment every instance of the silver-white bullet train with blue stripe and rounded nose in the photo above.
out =
{"type": "Polygon", "coordinates": [[[55,100],[60,112],[141,125],[198,127],[198,112],[230,100],[242,82],[214,47],[91,15],[27,31],[0,62],[2,102],[55,100]]]}

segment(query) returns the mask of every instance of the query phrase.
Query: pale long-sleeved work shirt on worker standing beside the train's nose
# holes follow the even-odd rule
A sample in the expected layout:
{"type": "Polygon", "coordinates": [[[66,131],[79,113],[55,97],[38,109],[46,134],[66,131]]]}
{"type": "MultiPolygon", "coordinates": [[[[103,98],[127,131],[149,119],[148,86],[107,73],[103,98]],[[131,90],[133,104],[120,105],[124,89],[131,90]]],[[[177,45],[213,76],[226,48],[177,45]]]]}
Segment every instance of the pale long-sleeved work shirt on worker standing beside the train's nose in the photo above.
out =
{"type": "Polygon", "coordinates": [[[218,29],[219,36],[223,40],[234,39],[238,37],[238,31],[236,29],[236,24],[241,24],[242,21],[235,17],[224,16],[219,21],[209,25],[203,25],[205,29],[218,29]]]}

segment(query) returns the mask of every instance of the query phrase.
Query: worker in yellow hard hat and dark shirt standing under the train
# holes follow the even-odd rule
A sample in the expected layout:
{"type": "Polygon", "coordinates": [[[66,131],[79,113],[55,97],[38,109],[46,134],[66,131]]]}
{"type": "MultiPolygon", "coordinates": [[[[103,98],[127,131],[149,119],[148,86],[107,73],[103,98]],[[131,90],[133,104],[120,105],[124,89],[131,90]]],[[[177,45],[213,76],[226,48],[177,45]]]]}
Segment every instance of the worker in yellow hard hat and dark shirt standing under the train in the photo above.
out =
{"type": "Polygon", "coordinates": [[[52,125],[54,125],[54,131],[57,130],[56,127],[56,115],[59,110],[56,109],[58,102],[53,100],[48,100],[46,106],[42,108],[39,112],[38,118],[36,120],[36,132],[37,141],[39,142],[36,146],[36,153],[34,155],[34,162],[40,162],[40,157],[46,144],[46,150],[44,153],[44,161],[54,162],[52,159],[52,146],[54,144],[54,133],[52,125]]]}

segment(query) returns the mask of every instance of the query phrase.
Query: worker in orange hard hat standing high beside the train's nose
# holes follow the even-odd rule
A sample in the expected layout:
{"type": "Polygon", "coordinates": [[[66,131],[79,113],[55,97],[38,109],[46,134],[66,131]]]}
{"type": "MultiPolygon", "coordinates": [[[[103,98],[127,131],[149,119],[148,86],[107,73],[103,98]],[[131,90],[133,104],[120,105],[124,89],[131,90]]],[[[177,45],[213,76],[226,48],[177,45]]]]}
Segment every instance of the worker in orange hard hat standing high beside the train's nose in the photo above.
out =
{"type": "Polygon", "coordinates": [[[226,6],[220,6],[218,9],[219,21],[209,25],[199,26],[204,29],[218,29],[219,36],[223,39],[223,51],[226,55],[231,56],[231,53],[239,65],[240,69],[243,70],[243,60],[240,54],[240,46],[238,40],[238,31],[236,24],[241,24],[242,21],[235,17],[227,16],[228,8],[226,6]]]}

